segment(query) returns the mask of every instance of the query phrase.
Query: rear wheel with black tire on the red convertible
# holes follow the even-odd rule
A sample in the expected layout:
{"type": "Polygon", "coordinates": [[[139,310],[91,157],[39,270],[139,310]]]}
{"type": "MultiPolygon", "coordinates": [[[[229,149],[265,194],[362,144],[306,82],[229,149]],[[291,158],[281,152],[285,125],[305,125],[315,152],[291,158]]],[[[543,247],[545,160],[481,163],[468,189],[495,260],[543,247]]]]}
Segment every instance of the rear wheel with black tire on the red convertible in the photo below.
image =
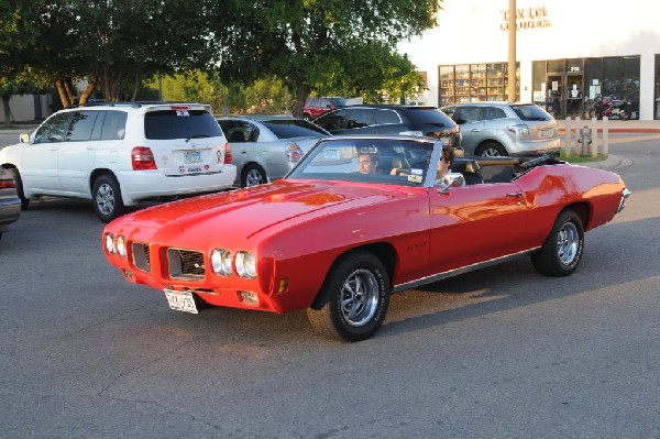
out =
{"type": "Polygon", "coordinates": [[[573,210],[564,210],[557,217],[541,250],[531,255],[531,263],[546,276],[568,276],[578,268],[583,250],[582,220],[573,210]]]}

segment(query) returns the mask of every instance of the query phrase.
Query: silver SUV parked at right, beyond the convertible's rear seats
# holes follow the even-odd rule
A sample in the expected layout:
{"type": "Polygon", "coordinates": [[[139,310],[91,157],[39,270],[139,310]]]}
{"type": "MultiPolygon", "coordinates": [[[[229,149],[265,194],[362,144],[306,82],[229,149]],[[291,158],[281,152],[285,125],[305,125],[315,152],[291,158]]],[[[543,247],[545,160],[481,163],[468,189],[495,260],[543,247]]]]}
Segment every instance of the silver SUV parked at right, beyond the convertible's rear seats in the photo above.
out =
{"type": "Polygon", "coordinates": [[[558,154],[557,121],[535,103],[469,102],[442,108],[461,127],[466,155],[558,154]]]}

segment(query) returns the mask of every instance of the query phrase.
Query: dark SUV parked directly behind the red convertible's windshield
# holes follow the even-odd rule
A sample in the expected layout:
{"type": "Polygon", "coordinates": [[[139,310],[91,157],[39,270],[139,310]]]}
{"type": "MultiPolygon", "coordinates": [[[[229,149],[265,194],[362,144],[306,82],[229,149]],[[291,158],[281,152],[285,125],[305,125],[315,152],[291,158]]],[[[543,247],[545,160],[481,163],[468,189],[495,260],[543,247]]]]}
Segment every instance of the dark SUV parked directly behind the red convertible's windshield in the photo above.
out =
{"type": "Polygon", "coordinates": [[[403,134],[440,139],[460,147],[459,125],[436,107],[349,106],[314,119],[332,134],[403,134]]]}

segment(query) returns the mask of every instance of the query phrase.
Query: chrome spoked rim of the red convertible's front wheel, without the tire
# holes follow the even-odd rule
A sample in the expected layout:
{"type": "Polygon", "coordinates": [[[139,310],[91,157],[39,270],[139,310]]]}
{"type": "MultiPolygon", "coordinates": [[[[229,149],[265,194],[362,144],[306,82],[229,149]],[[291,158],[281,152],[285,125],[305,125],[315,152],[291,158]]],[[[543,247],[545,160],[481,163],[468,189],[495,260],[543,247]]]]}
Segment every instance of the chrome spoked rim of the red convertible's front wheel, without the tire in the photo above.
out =
{"type": "Polygon", "coordinates": [[[370,321],[378,305],[378,283],[373,273],[356,270],[344,281],[341,292],[341,315],[354,327],[370,321]]]}

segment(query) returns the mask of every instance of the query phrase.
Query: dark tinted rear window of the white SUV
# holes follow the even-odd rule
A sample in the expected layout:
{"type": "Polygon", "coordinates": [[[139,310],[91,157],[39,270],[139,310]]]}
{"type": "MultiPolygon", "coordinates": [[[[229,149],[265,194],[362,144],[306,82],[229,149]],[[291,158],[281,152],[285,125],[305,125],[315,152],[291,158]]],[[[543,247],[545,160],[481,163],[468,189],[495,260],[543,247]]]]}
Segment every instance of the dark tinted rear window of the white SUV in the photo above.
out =
{"type": "Polygon", "coordinates": [[[148,111],[144,116],[144,135],[152,140],[222,136],[218,121],[206,110],[188,110],[178,116],[175,110],[148,111]]]}

